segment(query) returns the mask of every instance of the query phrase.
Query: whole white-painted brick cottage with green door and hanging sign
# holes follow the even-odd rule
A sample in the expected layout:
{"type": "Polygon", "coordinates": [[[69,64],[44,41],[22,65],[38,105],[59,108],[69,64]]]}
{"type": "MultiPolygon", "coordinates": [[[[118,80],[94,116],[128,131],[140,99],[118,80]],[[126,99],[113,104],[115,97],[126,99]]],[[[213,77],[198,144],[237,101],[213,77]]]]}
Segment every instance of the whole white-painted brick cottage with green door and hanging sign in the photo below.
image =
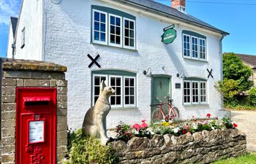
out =
{"type": "Polygon", "coordinates": [[[169,94],[182,119],[218,117],[222,39],[228,35],[151,0],[23,0],[15,58],[67,66],[68,125],[80,128],[103,79],[116,90],[108,128],[151,120],[151,104],[169,94]]]}

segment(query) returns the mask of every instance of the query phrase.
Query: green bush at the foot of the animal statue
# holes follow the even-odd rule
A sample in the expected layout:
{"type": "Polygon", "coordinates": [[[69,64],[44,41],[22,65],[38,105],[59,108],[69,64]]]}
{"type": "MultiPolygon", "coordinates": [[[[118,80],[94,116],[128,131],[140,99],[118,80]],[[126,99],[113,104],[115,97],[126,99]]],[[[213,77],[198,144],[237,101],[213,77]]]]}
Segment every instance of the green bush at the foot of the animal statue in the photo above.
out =
{"type": "Polygon", "coordinates": [[[70,133],[71,149],[69,160],[64,164],[112,164],[116,163],[115,152],[109,146],[102,146],[96,138],[85,136],[79,129],[70,133]]]}

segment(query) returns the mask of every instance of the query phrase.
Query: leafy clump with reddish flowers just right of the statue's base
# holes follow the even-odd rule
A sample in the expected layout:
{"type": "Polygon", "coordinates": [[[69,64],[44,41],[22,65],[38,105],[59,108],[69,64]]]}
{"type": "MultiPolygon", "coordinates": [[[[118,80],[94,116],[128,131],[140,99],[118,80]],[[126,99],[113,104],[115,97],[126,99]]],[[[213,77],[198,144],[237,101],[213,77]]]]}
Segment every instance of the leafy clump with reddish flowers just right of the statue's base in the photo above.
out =
{"type": "Polygon", "coordinates": [[[130,125],[125,124],[124,122],[120,122],[116,126],[116,138],[121,141],[129,141],[133,134],[132,134],[132,127],[130,125]]]}

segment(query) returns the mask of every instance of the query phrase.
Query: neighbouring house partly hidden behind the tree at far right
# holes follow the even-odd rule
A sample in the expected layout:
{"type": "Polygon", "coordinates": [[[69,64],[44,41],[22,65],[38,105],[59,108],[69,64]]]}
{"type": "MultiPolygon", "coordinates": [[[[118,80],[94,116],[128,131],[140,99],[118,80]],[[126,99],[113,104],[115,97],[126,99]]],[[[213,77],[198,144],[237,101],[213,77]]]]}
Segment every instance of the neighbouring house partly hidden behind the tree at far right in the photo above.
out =
{"type": "Polygon", "coordinates": [[[249,77],[249,80],[252,80],[256,86],[256,55],[244,55],[244,54],[236,54],[244,64],[251,67],[253,70],[253,74],[249,77]]]}

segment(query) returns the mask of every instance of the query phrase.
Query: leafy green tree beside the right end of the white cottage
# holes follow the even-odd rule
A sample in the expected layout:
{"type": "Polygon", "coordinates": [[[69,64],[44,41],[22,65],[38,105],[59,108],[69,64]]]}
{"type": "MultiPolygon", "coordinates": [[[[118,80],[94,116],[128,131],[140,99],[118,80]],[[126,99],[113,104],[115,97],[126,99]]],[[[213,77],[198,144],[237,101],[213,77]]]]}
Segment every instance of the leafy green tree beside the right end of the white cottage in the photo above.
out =
{"type": "Polygon", "coordinates": [[[223,93],[225,105],[238,104],[238,95],[249,90],[253,85],[249,80],[251,75],[252,69],[244,65],[233,52],[223,55],[223,82],[218,82],[217,89],[223,93]]]}

